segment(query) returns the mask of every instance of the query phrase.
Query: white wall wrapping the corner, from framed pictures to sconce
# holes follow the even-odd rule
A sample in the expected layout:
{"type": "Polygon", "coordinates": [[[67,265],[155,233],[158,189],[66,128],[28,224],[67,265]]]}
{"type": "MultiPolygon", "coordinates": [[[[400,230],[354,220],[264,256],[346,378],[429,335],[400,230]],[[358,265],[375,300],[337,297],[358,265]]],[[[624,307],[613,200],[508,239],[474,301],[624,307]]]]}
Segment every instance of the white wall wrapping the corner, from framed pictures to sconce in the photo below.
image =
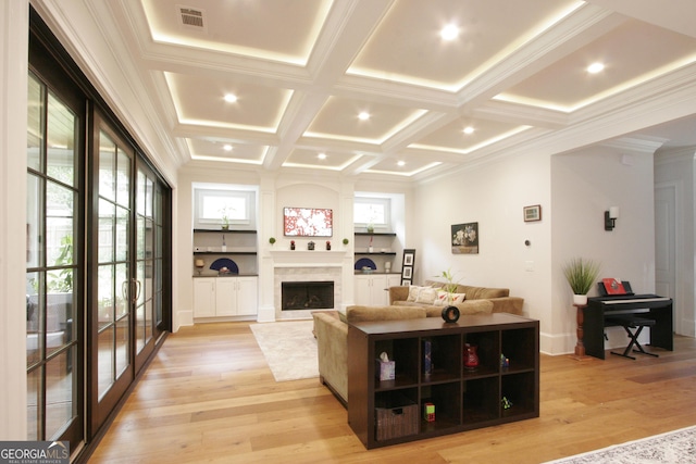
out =
{"type": "MultiPolygon", "coordinates": [[[[602,276],[655,291],[651,153],[599,147],[515,155],[421,185],[414,197],[415,281],[451,268],[462,284],[509,288],[524,298],[525,315],[539,319],[543,352],[569,353],[575,346],[562,274],[569,259],[595,259],[602,276]],[[532,204],[542,205],[542,221],[524,223],[522,210],[532,204]],[[604,212],[612,205],[621,217],[605,231],[604,212]],[[450,226],[469,222],[478,223],[480,252],[452,254],[450,226]]],[[[611,334],[607,346],[624,339],[611,334]]]]}

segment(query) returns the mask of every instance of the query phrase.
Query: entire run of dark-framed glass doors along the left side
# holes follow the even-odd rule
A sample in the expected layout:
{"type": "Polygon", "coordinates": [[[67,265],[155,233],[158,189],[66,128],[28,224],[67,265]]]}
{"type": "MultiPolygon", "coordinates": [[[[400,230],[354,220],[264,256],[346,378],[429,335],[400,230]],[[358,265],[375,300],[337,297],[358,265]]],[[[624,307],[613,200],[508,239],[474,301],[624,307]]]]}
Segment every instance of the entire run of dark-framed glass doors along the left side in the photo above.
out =
{"type": "Polygon", "coordinates": [[[171,189],[32,12],[27,438],[89,447],[171,329],[171,189]]]}

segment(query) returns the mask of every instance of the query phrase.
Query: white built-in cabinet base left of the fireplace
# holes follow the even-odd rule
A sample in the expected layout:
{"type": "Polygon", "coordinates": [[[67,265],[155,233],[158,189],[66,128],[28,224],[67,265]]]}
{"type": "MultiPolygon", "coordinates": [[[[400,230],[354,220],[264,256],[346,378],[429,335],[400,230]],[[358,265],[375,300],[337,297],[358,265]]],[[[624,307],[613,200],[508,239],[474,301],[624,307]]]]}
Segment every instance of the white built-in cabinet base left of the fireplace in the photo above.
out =
{"type": "Polygon", "coordinates": [[[258,277],[194,278],[194,317],[256,316],[258,277]]]}

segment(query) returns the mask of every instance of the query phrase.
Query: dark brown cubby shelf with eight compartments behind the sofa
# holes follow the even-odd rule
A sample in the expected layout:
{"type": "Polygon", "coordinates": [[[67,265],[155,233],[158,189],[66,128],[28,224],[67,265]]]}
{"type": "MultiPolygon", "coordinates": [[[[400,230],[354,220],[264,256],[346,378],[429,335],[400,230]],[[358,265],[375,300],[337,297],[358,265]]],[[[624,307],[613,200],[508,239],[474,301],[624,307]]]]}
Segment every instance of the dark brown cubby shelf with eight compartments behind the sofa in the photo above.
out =
{"type": "Polygon", "coordinates": [[[436,317],[351,324],[348,423],[371,449],[538,417],[538,321],[507,313],[467,315],[453,324],[436,317]],[[477,347],[474,369],[464,366],[467,343],[477,347]],[[382,353],[395,363],[394,380],[376,375],[382,353]],[[433,422],[424,418],[425,403],[435,405],[433,422]]]}

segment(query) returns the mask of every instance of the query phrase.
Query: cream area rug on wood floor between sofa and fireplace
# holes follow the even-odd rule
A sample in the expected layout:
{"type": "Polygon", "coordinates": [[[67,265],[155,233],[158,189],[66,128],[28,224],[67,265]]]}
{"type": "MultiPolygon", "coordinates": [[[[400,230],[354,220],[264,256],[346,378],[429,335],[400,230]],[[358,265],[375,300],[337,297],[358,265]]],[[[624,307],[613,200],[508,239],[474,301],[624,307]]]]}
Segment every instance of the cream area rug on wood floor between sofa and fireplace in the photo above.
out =
{"type": "Polygon", "coordinates": [[[249,326],[275,381],[319,377],[313,325],[313,321],[288,321],[249,326]]]}

